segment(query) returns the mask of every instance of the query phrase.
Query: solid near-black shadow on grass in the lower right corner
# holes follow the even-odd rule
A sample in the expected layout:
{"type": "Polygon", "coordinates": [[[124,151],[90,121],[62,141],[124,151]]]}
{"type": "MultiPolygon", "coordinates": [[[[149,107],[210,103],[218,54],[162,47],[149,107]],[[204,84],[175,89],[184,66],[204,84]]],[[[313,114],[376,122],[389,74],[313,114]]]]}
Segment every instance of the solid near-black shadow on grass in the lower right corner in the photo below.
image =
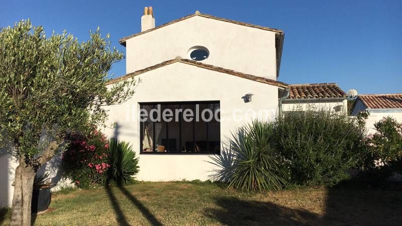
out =
{"type": "Polygon", "coordinates": [[[336,225],[401,225],[400,188],[369,188],[357,180],[328,189],[323,222],[336,225]]]}

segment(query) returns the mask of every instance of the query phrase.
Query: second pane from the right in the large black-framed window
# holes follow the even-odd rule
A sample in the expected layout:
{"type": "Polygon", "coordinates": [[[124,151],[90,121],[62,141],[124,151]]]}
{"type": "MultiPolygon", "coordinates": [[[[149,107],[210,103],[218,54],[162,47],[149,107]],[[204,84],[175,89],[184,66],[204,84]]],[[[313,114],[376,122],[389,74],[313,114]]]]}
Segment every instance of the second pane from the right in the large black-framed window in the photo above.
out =
{"type": "MultiPolygon", "coordinates": [[[[208,152],[209,145],[208,145],[208,137],[207,137],[207,122],[203,120],[202,112],[208,108],[208,104],[196,104],[198,105],[198,122],[195,121],[195,129],[194,129],[194,136],[195,136],[195,152],[208,152]]],[[[209,118],[207,113],[206,119],[209,118]]]]}

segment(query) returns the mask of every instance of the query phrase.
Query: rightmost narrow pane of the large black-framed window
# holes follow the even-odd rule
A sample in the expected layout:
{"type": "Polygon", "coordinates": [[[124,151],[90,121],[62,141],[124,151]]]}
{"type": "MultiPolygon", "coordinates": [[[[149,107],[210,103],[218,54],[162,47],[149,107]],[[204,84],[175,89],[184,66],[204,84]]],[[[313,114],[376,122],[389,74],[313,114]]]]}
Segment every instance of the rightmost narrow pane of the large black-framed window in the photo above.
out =
{"type": "Polygon", "coordinates": [[[221,125],[217,121],[220,120],[220,113],[215,114],[215,112],[219,111],[220,104],[208,104],[208,107],[212,110],[214,117],[212,118],[211,122],[208,123],[208,140],[209,140],[209,148],[210,152],[213,153],[220,153],[221,152],[221,125]],[[217,118],[215,117],[217,116],[217,118]]]}

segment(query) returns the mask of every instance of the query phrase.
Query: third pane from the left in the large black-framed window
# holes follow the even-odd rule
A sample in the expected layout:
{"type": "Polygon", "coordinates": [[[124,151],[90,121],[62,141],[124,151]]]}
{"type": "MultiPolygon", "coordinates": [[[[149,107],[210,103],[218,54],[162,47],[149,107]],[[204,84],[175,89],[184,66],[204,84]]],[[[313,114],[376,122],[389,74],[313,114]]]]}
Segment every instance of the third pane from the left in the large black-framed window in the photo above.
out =
{"type": "Polygon", "coordinates": [[[163,144],[168,152],[180,152],[180,122],[176,121],[176,109],[179,109],[179,105],[169,104],[168,108],[173,112],[173,118],[167,123],[169,140],[164,139],[163,144]]]}

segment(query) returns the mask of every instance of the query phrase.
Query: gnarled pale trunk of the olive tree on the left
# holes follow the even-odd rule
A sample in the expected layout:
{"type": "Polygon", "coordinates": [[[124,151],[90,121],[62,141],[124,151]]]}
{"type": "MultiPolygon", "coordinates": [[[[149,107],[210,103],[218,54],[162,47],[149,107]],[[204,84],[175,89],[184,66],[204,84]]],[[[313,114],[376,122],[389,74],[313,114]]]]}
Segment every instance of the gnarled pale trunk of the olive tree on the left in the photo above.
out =
{"type": "Polygon", "coordinates": [[[31,225],[31,201],[35,170],[20,160],[14,180],[11,225],[31,225]]]}

